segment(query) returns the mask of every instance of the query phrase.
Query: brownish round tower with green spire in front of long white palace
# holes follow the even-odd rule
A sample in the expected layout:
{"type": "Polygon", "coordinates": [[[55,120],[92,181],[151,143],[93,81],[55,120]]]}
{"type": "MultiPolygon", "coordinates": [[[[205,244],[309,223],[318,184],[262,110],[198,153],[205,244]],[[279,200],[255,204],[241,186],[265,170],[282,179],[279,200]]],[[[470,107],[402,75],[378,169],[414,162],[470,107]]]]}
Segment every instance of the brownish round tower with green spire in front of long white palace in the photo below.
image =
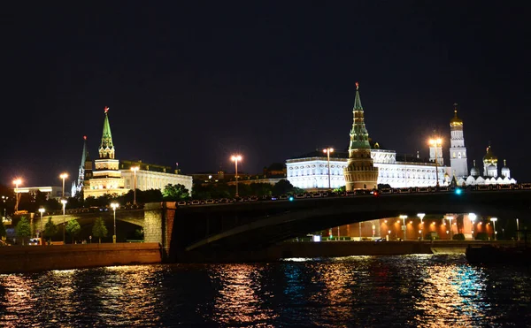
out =
{"type": "Polygon", "coordinates": [[[356,82],[356,99],[352,111],[354,121],[350,130],[349,159],[344,169],[346,190],[373,189],[378,187],[378,168],[374,167],[371,157],[369,133],[359,98],[358,82],[356,82]]]}

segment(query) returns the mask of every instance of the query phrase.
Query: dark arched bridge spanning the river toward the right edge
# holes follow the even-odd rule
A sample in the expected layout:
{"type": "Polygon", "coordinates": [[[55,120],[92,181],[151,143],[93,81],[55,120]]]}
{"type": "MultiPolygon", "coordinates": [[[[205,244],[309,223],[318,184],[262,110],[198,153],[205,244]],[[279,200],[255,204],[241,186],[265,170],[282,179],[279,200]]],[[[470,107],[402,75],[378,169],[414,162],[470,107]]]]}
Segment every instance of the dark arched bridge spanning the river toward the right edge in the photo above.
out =
{"type": "Polygon", "coordinates": [[[417,213],[469,213],[500,219],[531,216],[531,190],[358,195],[167,207],[173,221],[171,250],[209,252],[267,248],[281,240],[330,227],[417,213]]]}

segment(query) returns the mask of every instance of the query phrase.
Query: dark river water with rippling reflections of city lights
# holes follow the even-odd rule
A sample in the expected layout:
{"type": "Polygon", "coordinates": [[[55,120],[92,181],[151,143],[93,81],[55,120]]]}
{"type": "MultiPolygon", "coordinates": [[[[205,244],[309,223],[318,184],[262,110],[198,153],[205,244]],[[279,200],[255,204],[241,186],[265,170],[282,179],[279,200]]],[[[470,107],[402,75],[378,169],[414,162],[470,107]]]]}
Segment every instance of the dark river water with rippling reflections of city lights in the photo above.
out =
{"type": "Polygon", "coordinates": [[[10,274],[0,275],[0,326],[524,327],[531,274],[462,255],[10,274]]]}

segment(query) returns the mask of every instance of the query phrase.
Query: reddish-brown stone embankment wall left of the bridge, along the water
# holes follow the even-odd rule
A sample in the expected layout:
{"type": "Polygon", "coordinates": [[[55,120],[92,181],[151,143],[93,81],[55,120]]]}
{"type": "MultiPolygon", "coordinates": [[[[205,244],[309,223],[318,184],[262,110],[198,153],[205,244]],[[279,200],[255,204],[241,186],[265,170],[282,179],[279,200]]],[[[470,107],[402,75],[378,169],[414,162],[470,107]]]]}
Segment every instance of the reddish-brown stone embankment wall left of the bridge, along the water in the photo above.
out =
{"type": "Polygon", "coordinates": [[[161,263],[162,254],[155,242],[9,246],[0,248],[0,262],[0,273],[26,273],[161,263]]]}

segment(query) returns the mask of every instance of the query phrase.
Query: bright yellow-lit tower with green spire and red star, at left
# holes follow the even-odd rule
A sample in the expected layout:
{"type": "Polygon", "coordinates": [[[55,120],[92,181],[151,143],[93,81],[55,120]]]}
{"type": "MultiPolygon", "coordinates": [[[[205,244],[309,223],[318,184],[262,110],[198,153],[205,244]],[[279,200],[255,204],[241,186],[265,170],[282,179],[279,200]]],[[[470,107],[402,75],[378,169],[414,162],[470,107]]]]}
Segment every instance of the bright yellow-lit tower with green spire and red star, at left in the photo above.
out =
{"type": "MultiPolygon", "coordinates": [[[[95,161],[95,170],[89,183],[85,184],[84,198],[99,197],[105,194],[123,195],[129,189],[126,189],[125,179],[121,177],[119,171],[119,160],[115,159],[115,149],[112,143],[111,125],[109,124],[109,107],[105,107],[104,133],[98,150],[99,159],[95,161]]],[[[91,166],[91,165],[90,165],[91,166]]],[[[85,161],[85,172],[87,172],[87,161],[85,161]]]]}

